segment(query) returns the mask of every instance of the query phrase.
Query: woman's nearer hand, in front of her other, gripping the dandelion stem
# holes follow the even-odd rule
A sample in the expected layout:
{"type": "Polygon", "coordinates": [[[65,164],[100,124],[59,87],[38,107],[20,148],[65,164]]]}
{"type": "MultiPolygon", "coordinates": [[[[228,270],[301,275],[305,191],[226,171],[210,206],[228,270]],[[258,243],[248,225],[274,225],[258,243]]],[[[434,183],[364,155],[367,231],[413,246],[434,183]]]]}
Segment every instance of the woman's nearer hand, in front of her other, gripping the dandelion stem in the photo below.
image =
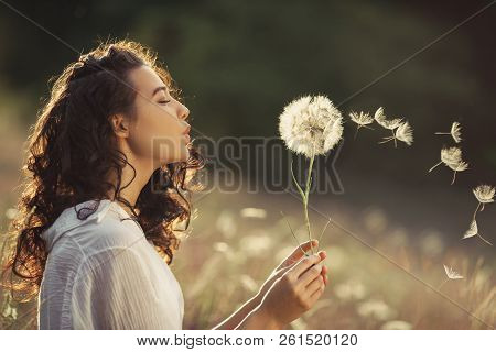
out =
{"type": "Polygon", "coordinates": [[[325,288],[321,263],[324,257],[322,251],[304,256],[273,282],[259,307],[270,321],[284,327],[315,305],[325,288]]]}

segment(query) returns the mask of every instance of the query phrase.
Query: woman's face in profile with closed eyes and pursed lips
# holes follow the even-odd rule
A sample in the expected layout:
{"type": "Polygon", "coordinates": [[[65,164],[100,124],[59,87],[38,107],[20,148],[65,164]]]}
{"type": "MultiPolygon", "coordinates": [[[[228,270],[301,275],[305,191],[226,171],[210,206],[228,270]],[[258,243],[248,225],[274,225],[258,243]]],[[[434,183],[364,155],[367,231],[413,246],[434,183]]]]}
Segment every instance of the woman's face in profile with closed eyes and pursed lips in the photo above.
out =
{"type": "Polygon", "coordinates": [[[190,156],[190,110],[175,100],[169,87],[149,66],[129,73],[137,90],[136,118],[129,130],[128,144],[140,160],[149,160],[153,168],[168,163],[185,162],[190,156]]]}

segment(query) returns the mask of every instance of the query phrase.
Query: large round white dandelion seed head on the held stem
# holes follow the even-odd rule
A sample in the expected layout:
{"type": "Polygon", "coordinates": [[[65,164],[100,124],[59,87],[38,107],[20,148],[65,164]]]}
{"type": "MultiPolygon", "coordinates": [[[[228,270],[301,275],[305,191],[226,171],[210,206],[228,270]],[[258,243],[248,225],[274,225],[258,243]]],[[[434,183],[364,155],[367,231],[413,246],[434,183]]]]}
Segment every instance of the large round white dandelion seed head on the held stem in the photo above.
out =
{"type": "Polygon", "coordinates": [[[306,157],[325,154],[343,135],[339,110],[325,96],[304,96],[279,117],[279,132],[288,148],[306,157]]]}

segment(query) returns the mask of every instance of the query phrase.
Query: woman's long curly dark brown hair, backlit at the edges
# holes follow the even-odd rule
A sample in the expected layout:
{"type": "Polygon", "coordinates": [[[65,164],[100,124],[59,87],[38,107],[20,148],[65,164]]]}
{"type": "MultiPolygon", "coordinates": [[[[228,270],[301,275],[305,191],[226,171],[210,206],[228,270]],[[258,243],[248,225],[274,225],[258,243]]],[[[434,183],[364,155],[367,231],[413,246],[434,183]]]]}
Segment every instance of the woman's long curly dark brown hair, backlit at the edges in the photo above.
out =
{"type": "MultiPolygon", "coordinates": [[[[142,65],[153,68],[171,95],[181,100],[180,89],[155,53],[132,41],[106,42],[64,69],[31,127],[22,168],[25,182],[21,185],[18,215],[9,228],[13,245],[2,272],[3,286],[12,289],[12,295],[21,293],[21,301],[40,290],[48,255],[41,233],[64,209],[90,199],[106,199],[111,193],[114,199],[131,209],[129,219],[139,222],[147,240],[168,264],[172,263],[181,242],[175,232],[187,229],[191,193],[201,187],[192,182],[193,176],[205,162],[190,144],[188,160],[154,170],[134,206],[119,196],[129,185],[120,184],[123,167],[129,165],[134,176],[136,169],[117,148],[108,118],[115,113],[132,116],[137,91],[128,73],[142,65]],[[110,172],[117,174],[117,185],[107,180],[110,172]],[[175,229],[179,222],[185,222],[185,229],[175,229]],[[19,276],[15,284],[13,274],[19,276]]],[[[80,210],[79,219],[89,216],[85,211],[82,218],[80,210]]]]}

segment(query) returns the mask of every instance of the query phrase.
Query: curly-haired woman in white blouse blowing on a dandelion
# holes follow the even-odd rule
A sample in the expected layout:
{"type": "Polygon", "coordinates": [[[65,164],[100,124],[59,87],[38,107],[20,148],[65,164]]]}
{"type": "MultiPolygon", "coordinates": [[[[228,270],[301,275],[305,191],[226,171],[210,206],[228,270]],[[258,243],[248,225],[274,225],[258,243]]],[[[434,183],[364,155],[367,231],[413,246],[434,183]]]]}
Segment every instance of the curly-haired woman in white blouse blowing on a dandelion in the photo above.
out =
{"type": "MultiPolygon", "coordinates": [[[[40,329],[182,328],[173,226],[187,228],[185,194],[204,165],[188,113],[170,74],[134,42],[101,44],[56,79],[29,138],[3,272],[20,278],[11,275],[15,290],[39,295],[40,329]]],[[[327,282],[325,253],[302,254],[215,328],[282,329],[310,309],[327,282]]]]}

